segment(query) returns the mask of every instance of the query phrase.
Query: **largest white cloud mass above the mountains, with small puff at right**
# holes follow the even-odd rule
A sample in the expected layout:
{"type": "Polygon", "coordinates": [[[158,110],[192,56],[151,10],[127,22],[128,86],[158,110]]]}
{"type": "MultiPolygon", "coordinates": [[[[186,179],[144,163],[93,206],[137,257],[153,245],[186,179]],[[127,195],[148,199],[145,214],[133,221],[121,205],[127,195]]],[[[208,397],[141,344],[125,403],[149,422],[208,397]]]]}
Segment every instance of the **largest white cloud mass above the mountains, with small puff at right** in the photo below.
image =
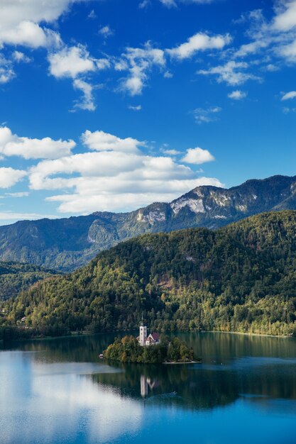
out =
{"type": "MultiPolygon", "coordinates": [[[[127,211],[170,201],[198,184],[221,186],[218,179],[199,177],[171,157],[147,155],[141,150],[145,143],[135,138],[85,131],[82,143],[91,151],[43,160],[29,171],[32,190],[63,190],[48,198],[58,202],[62,212],[127,211]]],[[[214,160],[207,150],[195,150],[187,151],[189,160],[195,156],[194,163],[214,160]]]]}

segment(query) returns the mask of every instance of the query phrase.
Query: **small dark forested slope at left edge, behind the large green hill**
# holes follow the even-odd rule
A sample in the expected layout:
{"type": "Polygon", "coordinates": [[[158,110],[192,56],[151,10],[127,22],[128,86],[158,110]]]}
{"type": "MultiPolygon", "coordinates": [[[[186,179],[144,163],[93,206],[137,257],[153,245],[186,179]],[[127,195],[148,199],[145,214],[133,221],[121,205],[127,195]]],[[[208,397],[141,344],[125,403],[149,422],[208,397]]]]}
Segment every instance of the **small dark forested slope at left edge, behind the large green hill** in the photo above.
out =
{"type": "Polygon", "coordinates": [[[18,262],[0,262],[0,301],[15,297],[35,282],[53,276],[57,272],[37,265],[18,262]]]}

